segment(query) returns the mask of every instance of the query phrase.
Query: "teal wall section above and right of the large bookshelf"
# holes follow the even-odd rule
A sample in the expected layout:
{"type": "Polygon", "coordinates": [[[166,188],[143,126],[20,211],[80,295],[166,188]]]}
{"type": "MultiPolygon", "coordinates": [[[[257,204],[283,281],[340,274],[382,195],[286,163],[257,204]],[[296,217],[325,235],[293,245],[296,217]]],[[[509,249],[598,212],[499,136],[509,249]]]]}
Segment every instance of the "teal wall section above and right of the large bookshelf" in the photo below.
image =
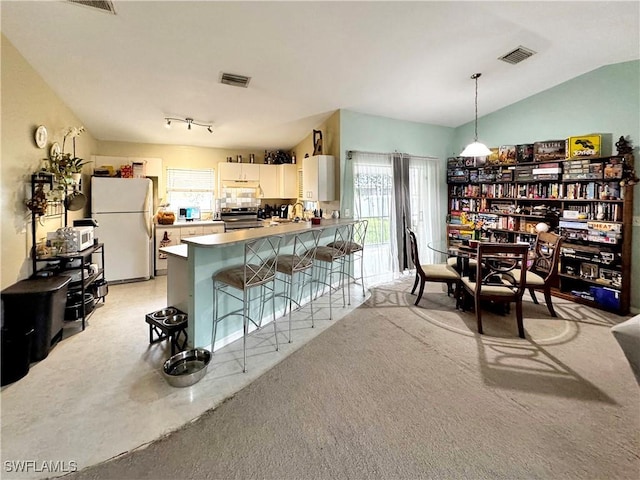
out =
{"type": "MultiPolygon", "coordinates": [[[[453,151],[462,151],[473,139],[473,122],[454,133],[453,151]]],[[[627,137],[640,166],[640,61],[598,68],[478,119],[478,139],[491,147],[587,133],[610,133],[613,144],[620,136],[627,137]]],[[[633,206],[634,215],[640,216],[638,186],[633,206]]],[[[633,227],[632,235],[631,307],[638,313],[640,228],[633,227]]]]}

